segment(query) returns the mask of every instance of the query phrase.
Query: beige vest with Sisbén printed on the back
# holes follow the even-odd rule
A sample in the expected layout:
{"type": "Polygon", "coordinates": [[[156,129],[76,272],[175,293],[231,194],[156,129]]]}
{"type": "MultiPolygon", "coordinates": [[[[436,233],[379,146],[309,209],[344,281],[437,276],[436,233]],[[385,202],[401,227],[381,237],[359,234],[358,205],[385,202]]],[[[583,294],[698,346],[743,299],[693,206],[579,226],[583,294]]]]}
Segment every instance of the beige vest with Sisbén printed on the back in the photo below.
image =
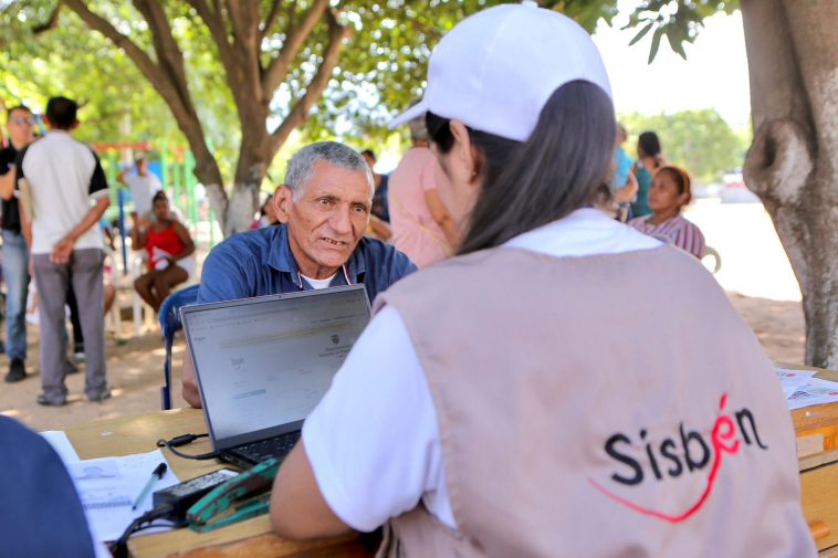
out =
{"type": "Polygon", "coordinates": [[[419,507],[390,555],[815,556],[772,365],[688,254],[496,249],[384,304],[428,378],[459,528],[419,507]]]}

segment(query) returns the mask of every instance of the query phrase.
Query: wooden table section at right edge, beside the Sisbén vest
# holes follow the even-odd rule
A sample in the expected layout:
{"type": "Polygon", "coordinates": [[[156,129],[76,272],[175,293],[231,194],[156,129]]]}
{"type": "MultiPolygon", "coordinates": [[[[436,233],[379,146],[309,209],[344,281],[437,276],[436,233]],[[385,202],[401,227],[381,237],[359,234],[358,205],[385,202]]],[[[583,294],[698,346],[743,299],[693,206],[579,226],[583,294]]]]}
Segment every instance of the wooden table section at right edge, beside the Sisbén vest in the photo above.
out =
{"type": "MultiPolygon", "coordinates": [[[[820,370],[815,377],[838,381],[838,371],[820,370]]],[[[794,410],[792,421],[797,435],[803,513],[821,556],[838,556],[838,403],[794,410]]]]}

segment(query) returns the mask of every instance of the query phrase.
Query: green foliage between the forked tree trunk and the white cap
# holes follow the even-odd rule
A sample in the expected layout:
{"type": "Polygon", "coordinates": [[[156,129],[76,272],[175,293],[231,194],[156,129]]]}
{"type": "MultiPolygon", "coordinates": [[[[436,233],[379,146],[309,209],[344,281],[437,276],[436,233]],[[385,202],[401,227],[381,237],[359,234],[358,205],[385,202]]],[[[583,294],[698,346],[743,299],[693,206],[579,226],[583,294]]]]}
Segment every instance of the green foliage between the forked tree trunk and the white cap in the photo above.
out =
{"type": "MultiPolygon", "coordinates": [[[[337,133],[384,140],[390,118],[421,96],[433,45],[460,20],[501,3],[509,0],[342,3],[344,19],[355,28],[355,34],[342,53],[324,99],[306,123],[304,134],[316,138],[337,133]]],[[[538,3],[574,18],[589,32],[600,19],[610,23],[617,14],[616,0],[538,3]]]]}

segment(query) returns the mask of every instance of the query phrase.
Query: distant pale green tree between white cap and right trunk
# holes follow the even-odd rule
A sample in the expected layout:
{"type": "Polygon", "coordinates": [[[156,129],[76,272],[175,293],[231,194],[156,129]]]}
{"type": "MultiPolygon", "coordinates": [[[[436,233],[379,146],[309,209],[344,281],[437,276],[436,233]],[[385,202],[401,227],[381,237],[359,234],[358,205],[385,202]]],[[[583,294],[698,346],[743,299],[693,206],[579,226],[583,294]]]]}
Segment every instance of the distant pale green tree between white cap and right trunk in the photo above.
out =
{"type": "Polygon", "coordinates": [[[653,116],[632,113],[619,115],[618,119],[629,131],[629,141],[624,146],[627,152],[635,156],[637,136],[653,130],[664,159],[683,166],[702,182],[712,182],[725,170],[742,167],[751,144],[750,135],[734,131],[713,108],[653,116]]]}

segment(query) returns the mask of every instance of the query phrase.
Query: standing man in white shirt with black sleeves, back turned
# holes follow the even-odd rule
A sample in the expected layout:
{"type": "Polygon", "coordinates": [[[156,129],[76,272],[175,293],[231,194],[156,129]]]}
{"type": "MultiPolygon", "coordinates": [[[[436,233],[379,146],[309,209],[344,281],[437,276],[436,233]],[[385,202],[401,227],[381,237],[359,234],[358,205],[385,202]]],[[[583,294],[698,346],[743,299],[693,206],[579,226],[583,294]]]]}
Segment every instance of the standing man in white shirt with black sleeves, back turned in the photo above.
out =
{"type": "Polygon", "coordinates": [[[39,293],[43,393],[38,402],[44,406],[66,402],[64,302],[71,283],[85,340],[85,394],[91,401],[111,397],[105,381],[104,252],[96,227],[111,199],[98,158],[70,137],[78,126],[77,108],[65,97],[49,101],[50,131],[22,151],[17,175],[39,293]]]}

